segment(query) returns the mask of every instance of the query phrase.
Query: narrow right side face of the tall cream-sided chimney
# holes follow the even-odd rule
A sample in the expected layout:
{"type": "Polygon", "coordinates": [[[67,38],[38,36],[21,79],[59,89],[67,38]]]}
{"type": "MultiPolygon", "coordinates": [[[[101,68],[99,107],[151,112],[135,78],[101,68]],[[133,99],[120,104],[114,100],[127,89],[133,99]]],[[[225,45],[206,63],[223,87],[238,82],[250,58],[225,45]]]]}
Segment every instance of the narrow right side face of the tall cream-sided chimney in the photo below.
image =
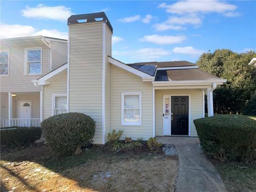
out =
{"type": "Polygon", "coordinates": [[[111,131],[111,64],[107,62],[111,56],[111,36],[112,33],[106,25],[106,77],[105,77],[105,141],[107,134],[111,131]]]}

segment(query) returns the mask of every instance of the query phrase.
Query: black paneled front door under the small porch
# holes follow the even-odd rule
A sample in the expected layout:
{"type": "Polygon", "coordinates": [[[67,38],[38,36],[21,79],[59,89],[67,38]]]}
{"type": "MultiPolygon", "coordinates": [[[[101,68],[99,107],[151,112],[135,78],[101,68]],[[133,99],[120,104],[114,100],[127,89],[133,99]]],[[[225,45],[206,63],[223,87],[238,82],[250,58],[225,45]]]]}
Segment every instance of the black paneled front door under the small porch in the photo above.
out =
{"type": "Polygon", "coordinates": [[[188,96],[171,97],[172,135],[188,135],[188,96]]]}

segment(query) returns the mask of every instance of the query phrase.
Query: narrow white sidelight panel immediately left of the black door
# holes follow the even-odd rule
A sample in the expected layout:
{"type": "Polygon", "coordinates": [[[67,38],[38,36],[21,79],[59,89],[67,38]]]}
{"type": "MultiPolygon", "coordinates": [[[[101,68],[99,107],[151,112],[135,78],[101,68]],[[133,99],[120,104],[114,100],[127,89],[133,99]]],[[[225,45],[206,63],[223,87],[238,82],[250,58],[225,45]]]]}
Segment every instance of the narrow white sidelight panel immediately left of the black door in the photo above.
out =
{"type": "Polygon", "coordinates": [[[163,135],[171,135],[171,114],[170,114],[170,96],[164,95],[163,103],[163,135]]]}

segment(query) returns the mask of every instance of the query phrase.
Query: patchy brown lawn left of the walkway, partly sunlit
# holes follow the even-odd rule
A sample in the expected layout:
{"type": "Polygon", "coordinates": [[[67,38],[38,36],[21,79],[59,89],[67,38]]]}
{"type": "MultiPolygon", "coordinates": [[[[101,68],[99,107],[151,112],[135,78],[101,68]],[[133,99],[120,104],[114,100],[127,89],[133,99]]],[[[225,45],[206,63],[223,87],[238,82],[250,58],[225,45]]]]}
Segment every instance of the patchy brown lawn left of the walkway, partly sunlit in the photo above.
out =
{"type": "Polygon", "coordinates": [[[93,146],[56,157],[47,146],[1,156],[1,191],[173,191],[178,158],[149,151],[110,153],[93,146]]]}

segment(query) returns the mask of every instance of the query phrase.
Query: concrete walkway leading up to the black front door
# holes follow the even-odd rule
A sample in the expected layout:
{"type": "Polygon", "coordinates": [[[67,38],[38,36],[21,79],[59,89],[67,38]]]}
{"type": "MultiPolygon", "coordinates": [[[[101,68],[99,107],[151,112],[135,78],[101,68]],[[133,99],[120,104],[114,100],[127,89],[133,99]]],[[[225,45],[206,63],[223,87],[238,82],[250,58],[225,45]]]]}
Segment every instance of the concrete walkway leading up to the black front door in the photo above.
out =
{"type": "Polygon", "coordinates": [[[174,144],[178,150],[179,173],[176,183],[178,192],[226,191],[215,167],[197,145],[198,138],[157,137],[157,141],[174,144]]]}

